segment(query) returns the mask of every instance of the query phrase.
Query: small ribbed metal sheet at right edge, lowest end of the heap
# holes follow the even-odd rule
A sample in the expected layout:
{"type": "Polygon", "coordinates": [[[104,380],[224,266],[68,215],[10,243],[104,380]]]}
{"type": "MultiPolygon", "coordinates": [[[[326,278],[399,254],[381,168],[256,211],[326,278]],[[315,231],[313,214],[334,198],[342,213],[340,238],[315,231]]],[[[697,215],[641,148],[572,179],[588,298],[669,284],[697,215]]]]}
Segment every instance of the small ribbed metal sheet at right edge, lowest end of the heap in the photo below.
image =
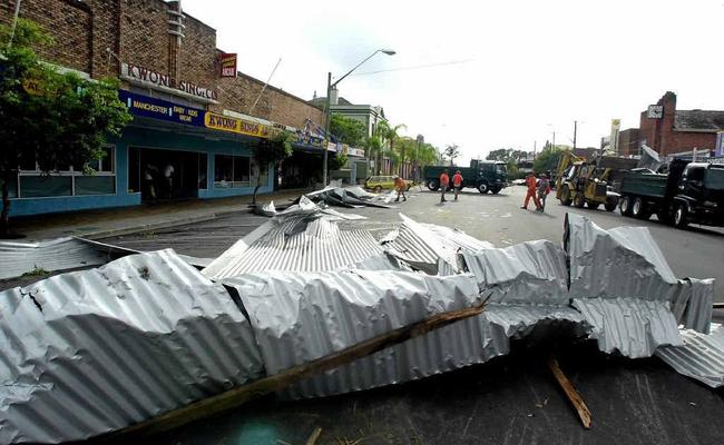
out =
{"type": "Polygon", "coordinates": [[[683,346],[665,346],[656,356],[677,373],[713,388],[724,386],[724,327],[712,325],[711,334],[682,329],[683,346]]]}

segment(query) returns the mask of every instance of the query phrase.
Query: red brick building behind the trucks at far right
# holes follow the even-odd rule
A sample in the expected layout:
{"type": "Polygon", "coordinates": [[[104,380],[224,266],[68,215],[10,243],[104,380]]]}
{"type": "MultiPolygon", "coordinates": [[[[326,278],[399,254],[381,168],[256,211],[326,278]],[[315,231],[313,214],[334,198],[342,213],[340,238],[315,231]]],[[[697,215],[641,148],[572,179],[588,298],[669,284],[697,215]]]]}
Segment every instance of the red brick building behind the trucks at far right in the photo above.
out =
{"type": "Polygon", "coordinates": [[[648,110],[640,113],[640,144],[662,155],[695,148],[699,151],[714,150],[716,134],[724,131],[724,111],[677,110],[676,95],[672,91],[667,91],[656,106],[661,108],[655,109],[653,115],[648,110]]]}

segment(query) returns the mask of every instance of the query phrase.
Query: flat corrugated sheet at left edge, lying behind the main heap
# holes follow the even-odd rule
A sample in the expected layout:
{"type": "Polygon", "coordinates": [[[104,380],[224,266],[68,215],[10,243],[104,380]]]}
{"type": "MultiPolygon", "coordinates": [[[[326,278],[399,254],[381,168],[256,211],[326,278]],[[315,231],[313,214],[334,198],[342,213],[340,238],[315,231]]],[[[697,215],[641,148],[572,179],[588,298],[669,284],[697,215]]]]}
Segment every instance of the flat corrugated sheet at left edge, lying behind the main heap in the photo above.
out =
{"type": "Polygon", "coordinates": [[[36,268],[56,271],[98,266],[127,255],[104,246],[107,245],[74,237],[40,243],[0,241],[0,279],[19,277],[36,268]]]}

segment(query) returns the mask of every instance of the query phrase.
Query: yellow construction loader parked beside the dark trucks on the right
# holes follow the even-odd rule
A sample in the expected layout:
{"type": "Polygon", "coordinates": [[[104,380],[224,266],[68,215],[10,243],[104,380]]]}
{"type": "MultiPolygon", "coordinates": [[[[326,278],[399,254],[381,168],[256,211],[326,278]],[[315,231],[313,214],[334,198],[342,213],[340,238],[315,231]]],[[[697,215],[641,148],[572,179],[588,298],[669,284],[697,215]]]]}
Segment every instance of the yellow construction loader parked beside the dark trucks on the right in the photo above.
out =
{"type": "Polygon", "coordinates": [[[586,160],[570,151],[564,151],[556,169],[556,198],[564,206],[588,206],[597,209],[604,205],[607,211],[614,211],[619,195],[610,189],[607,181],[612,168],[603,167],[599,161],[586,160]]]}

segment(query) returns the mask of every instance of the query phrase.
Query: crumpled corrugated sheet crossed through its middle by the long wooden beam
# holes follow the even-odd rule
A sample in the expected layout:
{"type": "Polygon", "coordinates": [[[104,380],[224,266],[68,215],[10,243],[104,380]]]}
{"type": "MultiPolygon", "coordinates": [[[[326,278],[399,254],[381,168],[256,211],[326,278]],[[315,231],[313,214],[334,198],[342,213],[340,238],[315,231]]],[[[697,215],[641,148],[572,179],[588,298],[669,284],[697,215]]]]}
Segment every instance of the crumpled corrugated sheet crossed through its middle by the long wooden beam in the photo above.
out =
{"type": "MultiPolygon", "coordinates": [[[[410,325],[479,304],[469,275],[403,271],[247,274],[224,280],[238,291],[270,375],[410,325]]],[[[325,396],[421,378],[495,356],[487,328],[463,320],[295,385],[288,394],[325,396]],[[451,328],[461,326],[462,328],[451,328]],[[489,343],[489,340],[488,340],[489,343]]],[[[493,348],[495,349],[495,348],[493,348]]]]}

